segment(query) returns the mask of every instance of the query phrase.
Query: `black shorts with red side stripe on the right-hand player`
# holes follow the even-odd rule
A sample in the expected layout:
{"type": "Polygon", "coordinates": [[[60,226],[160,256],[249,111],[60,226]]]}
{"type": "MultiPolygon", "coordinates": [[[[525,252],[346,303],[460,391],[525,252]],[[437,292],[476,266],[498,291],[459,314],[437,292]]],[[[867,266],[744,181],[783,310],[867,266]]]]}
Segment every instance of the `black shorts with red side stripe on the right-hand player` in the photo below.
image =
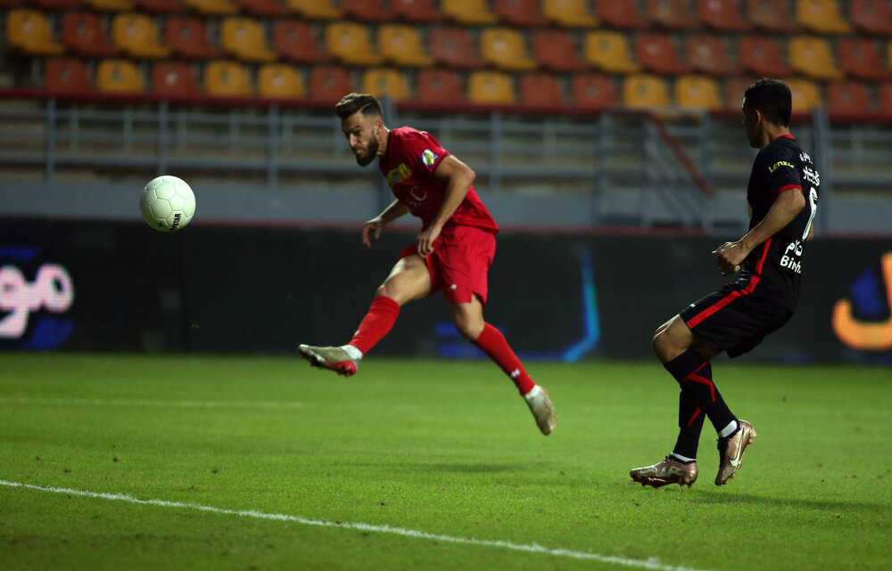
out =
{"type": "Polygon", "coordinates": [[[784,306],[726,285],[679,312],[694,336],[714,351],[736,357],[752,351],[793,313],[784,306]]]}

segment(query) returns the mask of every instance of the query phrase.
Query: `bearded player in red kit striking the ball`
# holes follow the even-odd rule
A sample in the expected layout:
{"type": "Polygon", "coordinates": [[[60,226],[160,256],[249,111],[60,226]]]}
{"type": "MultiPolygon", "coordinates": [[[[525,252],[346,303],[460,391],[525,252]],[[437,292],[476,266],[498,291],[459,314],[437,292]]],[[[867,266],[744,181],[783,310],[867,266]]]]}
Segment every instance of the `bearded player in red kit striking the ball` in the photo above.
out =
{"type": "Polygon", "coordinates": [[[408,126],[384,126],[381,103],[374,95],[346,95],[335,112],[359,166],[377,157],[396,197],[362,226],[363,244],[371,248],[384,226],[407,213],[421,218],[421,233],[402,250],[350,342],[341,347],[301,345],[301,355],[313,366],[349,377],[362,356],[391,330],[401,306],[442,290],[458,332],[505,371],[542,434],[550,434],[558,416],[548,391],[533,382],[501,332],[483,321],[499,225],[472,186],[474,171],[433,135],[408,126]]]}

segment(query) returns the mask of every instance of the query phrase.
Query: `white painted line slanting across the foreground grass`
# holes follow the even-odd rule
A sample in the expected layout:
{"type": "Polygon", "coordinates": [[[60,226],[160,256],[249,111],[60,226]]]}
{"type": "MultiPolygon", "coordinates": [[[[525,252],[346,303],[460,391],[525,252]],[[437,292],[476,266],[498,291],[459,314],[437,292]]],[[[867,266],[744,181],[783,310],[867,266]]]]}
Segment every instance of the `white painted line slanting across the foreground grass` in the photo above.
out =
{"type": "Polygon", "coordinates": [[[493,547],[508,551],[524,551],[527,553],[539,553],[541,555],[551,555],[554,557],[564,557],[569,559],[590,559],[600,561],[602,563],[614,563],[624,567],[638,567],[641,569],[652,569],[653,571],[704,571],[702,569],[694,569],[691,567],[678,567],[674,565],[666,565],[660,563],[656,558],[646,560],[627,559],[617,557],[615,555],[600,555],[599,553],[591,553],[591,551],[572,551],[566,549],[556,549],[551,547],[543,547],[535,543],[524,545],[522,543],[512,543],[505,541],[494,541],[487,539],[473,539],[469,537],[453,537],[451,535],[431,534],[428,532],[417,531],[414,529],[404,529],[402,527],[392,526],[375,526],[372,524],[350,523],[343,521],[325,521],[321,519],[300,518],[298,516],[290,516],[287,514],[264,513],[255,510],[227,510],[225,508],[215,508],[213,506],[202,506],[197,503],[168,502],[167,500],[140,500],[127,494],[103,494],[99,492],[87,492],[84,490],[75,490],[72,488],[57,488],[43,485],[22,484],[21,482],[9,482],[0,480],[0,485],[12,488],[27,488],[29,490],[37,490],[39,492],[51,492],[53,494],[78,495],[88,498],[96,498],[100,500],[111,500],[118,502],[137,503],[141,505],[161,506],[163,508],[181,508],[185,510],[198,510],[211,513],[223,514],[227,516],[239,516],[242,518],[270,519],[275,521],[287,521],[304,526],[318,527],[339,527],[343,529],[355,529],[359,531],[372,532],[376,534],[393,534],[403,537],[411,537],[414,539],[425,539],[435,542],[459,543],[463,545],[475,545],[479,547],[493,547]]]}

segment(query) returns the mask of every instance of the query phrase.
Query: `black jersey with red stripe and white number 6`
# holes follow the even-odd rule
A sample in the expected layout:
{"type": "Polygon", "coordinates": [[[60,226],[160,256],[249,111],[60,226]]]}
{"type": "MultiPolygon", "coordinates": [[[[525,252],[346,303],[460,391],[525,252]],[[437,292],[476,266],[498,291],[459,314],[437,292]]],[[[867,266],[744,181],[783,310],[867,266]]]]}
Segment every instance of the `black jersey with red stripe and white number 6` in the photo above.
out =
{"type": "Polygon", "coordinates": [[[821,176],[791,135],[782,135],[756,156],[749,175],[749,228],[762,222],[780,192],[802,192],[805,208],[780,232],[749,253],[736,282],[743,292],[789,311],[796,309],[802,252],[818,203],[821,176]]]}

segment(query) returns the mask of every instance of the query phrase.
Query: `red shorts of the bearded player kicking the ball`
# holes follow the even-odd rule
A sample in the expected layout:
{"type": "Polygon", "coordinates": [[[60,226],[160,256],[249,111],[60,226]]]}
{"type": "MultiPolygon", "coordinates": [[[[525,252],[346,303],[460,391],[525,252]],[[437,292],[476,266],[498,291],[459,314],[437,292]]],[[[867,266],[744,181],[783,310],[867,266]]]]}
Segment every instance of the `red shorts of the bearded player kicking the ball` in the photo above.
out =
{"type": "MultiPolygon", "coordinates": [[[[403,249],[400,259],[417,253],[418,245],[403,249]]],[[[486,305],[496,237],[474,226],[447,225],[434,241],[434,253],[425,258],[431,275],[431,293],[443,290],[450,304],[468,303],[473,296],[486,305]]]]}

